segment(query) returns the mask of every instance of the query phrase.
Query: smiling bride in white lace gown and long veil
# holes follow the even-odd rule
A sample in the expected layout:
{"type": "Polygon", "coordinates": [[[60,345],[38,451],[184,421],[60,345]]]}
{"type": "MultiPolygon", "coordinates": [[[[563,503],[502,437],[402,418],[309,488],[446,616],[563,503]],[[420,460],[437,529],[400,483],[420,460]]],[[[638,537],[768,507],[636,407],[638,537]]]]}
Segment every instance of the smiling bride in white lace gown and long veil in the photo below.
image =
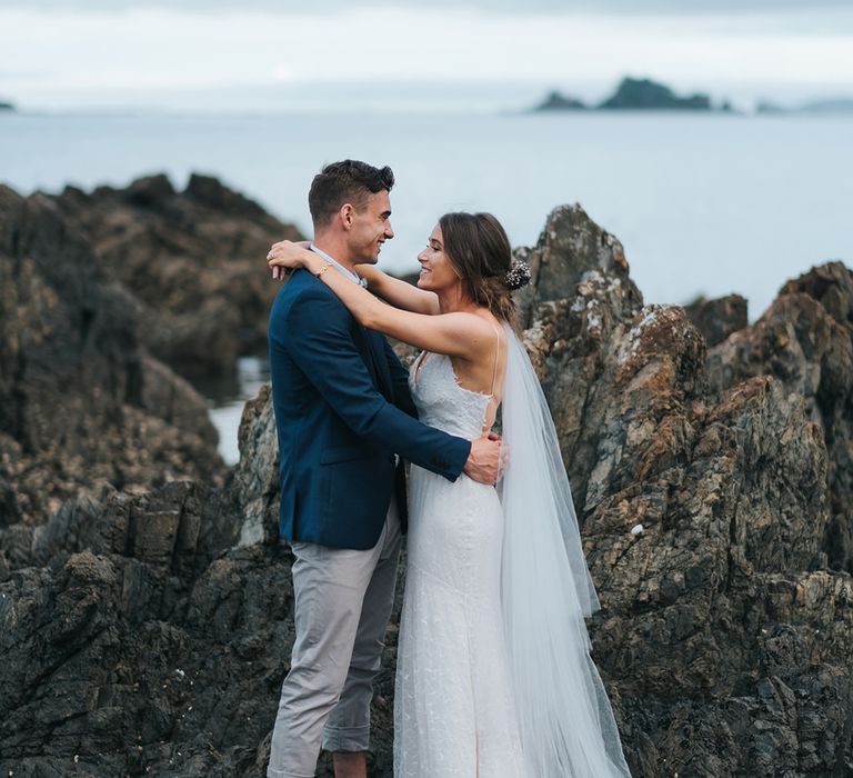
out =
{"type": "Polygon", "coordinates": [[[269,260],[307,268],[362,325],[423,349],[409,382],[424,423],[473,440],[501,410],[498,490],[411,467],[394,775],[630,776],[589,654],[598,599],[556,432],[513,329],[524,268],[489,213],[441,217],[418,261],[417,287],[359,266],[371,293],[299,243],[269,260]]]}

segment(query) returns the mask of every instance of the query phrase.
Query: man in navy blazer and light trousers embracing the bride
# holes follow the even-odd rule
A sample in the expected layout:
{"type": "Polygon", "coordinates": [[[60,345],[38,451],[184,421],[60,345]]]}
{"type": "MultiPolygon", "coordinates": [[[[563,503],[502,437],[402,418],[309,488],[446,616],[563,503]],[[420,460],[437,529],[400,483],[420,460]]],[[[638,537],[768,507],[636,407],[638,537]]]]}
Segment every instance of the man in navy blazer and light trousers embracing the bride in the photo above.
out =
{"type": "MultiPolygon", "coordinates": [[[[359,282],[391,229],[390,168],[345,160],[314,177],[311,248],[359,282]]],[[[359,325],[307,270],[270,315],[280,452],[280,535],[293,548],[295,641],[272,734],[270,778],[314,775],[321,746],[337,778],[364,778],[372,680],[394,598],[405,483],[400,458],[455,480],[494,483],[500,443],[421,425],[385,339],[359,325]],[[397,456],[399,455],[399,456],[397,456]]]]}

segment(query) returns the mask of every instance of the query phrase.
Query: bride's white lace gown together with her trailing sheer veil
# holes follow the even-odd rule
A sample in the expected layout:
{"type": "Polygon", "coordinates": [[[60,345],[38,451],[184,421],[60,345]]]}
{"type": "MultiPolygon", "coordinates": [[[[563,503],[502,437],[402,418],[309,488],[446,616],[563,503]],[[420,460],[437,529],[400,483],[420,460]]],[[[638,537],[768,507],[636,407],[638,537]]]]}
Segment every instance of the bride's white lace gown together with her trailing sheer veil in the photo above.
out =
{"type": "MultiPolygon", "coordinates": [[[[584,616],[598,598],[556,431],[509,327],[499,490],[412,466],[394,695],[395,778],[630,778],[584,616]]],[[[491,396],[430,353],[421,421],[473,440],[491,396]]]]}

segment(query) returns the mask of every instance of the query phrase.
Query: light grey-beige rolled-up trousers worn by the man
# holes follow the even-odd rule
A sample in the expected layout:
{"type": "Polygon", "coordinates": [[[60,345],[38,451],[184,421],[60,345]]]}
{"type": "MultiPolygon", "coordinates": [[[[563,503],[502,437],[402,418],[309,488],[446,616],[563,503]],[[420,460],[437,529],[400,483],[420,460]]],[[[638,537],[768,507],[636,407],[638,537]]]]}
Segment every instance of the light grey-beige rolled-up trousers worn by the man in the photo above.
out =
{"type": "Polygon", "coordinates": [[[297,637],[268,778],[311,778],[321,747],[368,749],[373,677],[394,601],[400,546],[393,499],[372,549],[292,543],[297,637]]]}

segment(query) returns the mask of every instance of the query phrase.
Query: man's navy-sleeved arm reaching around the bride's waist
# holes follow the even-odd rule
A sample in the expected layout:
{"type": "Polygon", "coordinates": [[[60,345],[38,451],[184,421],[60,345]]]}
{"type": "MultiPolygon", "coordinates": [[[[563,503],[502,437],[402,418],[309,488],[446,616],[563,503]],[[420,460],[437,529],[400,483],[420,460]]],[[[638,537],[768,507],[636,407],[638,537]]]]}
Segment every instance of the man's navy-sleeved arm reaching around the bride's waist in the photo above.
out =
{"type": "Polygon", "coordinates": [[[420,423],[377,391],[350,333],[351,321],[324,288],[305,290],[285,315],[283,346],[353,432],[455,480],[471,442],[420,423]]]}

